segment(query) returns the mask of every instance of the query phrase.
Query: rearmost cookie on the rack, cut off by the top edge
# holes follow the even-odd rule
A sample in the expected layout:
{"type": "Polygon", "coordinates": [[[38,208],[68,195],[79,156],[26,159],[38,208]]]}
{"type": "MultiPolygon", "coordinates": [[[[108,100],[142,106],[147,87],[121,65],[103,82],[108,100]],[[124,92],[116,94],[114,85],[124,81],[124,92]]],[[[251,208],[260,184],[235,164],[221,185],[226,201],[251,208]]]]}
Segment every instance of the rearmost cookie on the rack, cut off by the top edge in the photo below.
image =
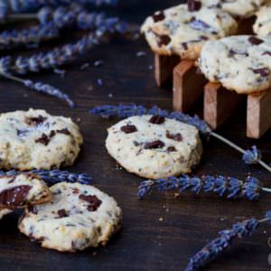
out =
{"type": "MultiPolygon", "coordinates": [[[[264,5],[266,0],[201,0],[201,1],[188,1],[190,5],[195,5],[195,2],[201,3],[201,5],[213,8],[221,8],[229,14],[246,18],[253,16],[261,5],[264,5]]],[[[198,4],[199,5],[199,4],[198,4]]]]}

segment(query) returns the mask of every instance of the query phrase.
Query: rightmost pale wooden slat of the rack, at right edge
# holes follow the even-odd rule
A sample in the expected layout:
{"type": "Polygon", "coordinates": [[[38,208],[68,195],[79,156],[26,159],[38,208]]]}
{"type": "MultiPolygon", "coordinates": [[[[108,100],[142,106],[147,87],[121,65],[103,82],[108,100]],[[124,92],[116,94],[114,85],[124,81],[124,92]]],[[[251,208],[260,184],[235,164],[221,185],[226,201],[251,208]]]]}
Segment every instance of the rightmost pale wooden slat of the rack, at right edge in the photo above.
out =
{"type": "Polygon", "coordinates": [[[247,136],[260,138],[271,127],[271,89],[248,95],[247,136]]]}

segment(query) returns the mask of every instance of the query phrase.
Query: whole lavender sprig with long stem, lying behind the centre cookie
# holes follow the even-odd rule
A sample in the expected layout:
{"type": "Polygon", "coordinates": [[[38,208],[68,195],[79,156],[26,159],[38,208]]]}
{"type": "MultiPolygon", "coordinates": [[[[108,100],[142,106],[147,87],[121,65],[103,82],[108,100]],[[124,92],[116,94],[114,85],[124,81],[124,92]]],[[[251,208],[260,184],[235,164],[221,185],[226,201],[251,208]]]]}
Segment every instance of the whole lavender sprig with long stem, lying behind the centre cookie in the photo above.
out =
{"type": "MultiPolygon", "coordinates": [[[[104,117],[104,118],[112,118],[112,117],[126,118],[126,117],[132,117],[132,116],[142,116],[142,115],[161,115],[164,117],[173,118],[173,119],[182,121],[184,123],[187,123],[189,125],[195,126],[201,132],[202,135],[211,135],[219,139],[221,142],[236,149],[241,154],[248,154],[248,151],[232,143],[224,136],[211,131],[210,126],[208,126],[208,124],[198,116],[191,117],[181,112],[170,113],[159,107],[152,107],[151,109],[147,109],[144,106],[141,106],[141,105],[137,106],[135,104],[130,104],[130,105],[119,104],[118,106],[105,105],[105,106],[100,106],[100,107],[94,107],[93,109],[90,110],[90,113],[100,116],[100,117],[104,117]]],[[[271,173],[271,167],[265,162],[263,162],[262,160],[260,160],[259,159],[260,156],[257,156],[257,158],[258,158],[257,163],[263,166],[268,172],[271,173]]]]}

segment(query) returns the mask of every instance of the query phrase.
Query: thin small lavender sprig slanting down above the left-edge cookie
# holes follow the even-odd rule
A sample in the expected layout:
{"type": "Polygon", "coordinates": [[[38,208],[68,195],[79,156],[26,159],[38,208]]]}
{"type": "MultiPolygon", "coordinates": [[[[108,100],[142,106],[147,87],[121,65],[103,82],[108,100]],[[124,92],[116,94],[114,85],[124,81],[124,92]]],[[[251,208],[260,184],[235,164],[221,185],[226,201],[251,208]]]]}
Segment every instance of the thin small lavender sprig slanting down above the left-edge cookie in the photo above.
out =
{"type": "Polygon", "coordinates": [[[9,73],[1,71],[0,76],[4,77],[5,79],[12,79],[16,82],[22,83],[25,87],[33,89],[34,91],[41,92],[52,97],[60,98],[61,100],[65,101],[69,105],[69,107],[75,107],[74,102],[70,99],[68,94],[63,93],[60,89],[56,89],[51,85],[43,84],[42,82],[33,82],[33,80],[30,79],[20,79],[9,73]]]}

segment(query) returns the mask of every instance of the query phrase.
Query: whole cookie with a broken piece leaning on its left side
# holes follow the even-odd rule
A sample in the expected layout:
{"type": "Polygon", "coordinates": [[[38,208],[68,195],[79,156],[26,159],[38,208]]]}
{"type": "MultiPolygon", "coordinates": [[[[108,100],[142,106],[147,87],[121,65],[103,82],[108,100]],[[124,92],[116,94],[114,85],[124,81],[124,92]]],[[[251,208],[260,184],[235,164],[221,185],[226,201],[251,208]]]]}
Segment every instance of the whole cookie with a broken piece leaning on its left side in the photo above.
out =
{"type": "Polygon", "coordinates": [[[60,182],[51,186],[52,200],[26,210],[19,229],[43,248],[82,250],[105,245],[120,228],[117,202],[97,188],[60,182]]]}

